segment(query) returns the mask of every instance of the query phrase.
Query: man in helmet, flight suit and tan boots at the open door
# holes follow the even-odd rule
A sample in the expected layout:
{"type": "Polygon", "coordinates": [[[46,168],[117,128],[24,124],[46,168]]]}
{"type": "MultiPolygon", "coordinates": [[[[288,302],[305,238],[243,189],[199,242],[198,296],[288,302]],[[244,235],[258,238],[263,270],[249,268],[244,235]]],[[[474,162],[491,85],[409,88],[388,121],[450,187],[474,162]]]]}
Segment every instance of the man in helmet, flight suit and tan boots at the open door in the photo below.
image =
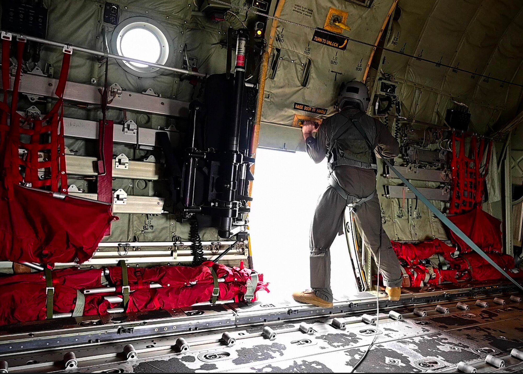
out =
{"type": "MultiPolygon", "coordinates": [[[[303,138],[309,156],[316,163],[326,156],[330,174],[329,186],[320,197],[311,225],[312,290],[294,293],[295,301],[321,307],[333,305],[330,247],[343,227],[347,205],[351,205],[355,212],[363,243],[380,263],[389,300],[400,299],[400,264],[381,225],[376,172],[372,168],[375,150],[386,158],[396,157],[400,150],[389,130],[365,114],[369,102],[365,84],[357,81],[343,83],[338,95],[338,113],[324,119],[319,129],[312,121],[303,124],[303,138]],[[314,132],[316,137],[312,136],[314,132]]],[[[376,156],[380,157],[377,153],[376,156]]]]}

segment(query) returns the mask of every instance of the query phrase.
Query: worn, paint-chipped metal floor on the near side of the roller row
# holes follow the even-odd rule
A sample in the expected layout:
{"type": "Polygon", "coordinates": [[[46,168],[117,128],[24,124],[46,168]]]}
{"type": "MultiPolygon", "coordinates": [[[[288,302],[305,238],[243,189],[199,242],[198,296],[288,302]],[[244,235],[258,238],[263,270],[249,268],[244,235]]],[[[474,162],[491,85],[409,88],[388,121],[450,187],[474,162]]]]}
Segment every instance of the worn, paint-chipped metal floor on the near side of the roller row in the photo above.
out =
{"type": "MultiPolygon", "coordinates": [[[[172,352],[170,345],[174,343],[169,343],[167,337],[152,339],[135,344],[139,359],[133,361],[122,361],[115,356],[118,349],[109,354],[102,348],[87,348],[77,355],[85,358],[78,359],[82,368],[77,371],[347,372],[365,353],[376,330],[379,332],[376,344],[358,371],[452,371],[460,361],[474,364],[482,362],[487,354],[507,354],[511,348],[523,346],[523,340],[518,340],[523,321],[520,304],[491,303],[488,308],[480,308],[474,302],[475,299],[467,301],[471,305],[470,311],[458,310],[454,302],[446,303],[445,306],[451,308],[448,314],[435,314],[434,304],[425,305],[424,309],[431,315],[418,317],[405,313],[402,321],[393,321],[383,314],[377,327],[361,322],[361,317],[349,316],[343,318],[347,322],[345,331],[331,326],[330,318],[320,318],[309,321],[314,328],[313,335],[297,331],[299,322],[280,322],[271,325],[278,334],[272,341],[261,336],[263,326],[228,329],[237,338],[234,346],[213,343],[219,334],[211,337],[201,333],[192,340],[188,338],[191,350],[182,354],[172,352]],[[474,317],[466,318],[463,314],[474,317]],[[206,337],[208,342],[204,343],[206,337]],[[155,345],[164,348],[155,350],[155,345]],[[95,352],[90,350],[96,350],[100,357],[94,357],[95,352]]],[[[60,354],[52,359],[58,361],[60,354]]],[[[20,358],[20,361],[24,359],[20,358]]],[[[59,369],[56,365],[51,368],[59,369]]],[[[20,369],[13,371],[27,371],[20,369]]],[[[31,369],[43,371],[35,370],[37,367],[31,369]]]]}

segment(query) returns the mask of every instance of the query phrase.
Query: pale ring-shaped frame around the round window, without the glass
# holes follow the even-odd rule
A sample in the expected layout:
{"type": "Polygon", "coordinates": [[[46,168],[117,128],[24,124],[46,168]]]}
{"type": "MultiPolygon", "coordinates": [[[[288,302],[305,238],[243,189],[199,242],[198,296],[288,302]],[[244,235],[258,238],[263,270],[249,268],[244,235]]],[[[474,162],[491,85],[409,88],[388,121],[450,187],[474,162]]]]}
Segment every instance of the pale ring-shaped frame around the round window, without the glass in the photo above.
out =
{"type": "MultiPolygon", "coordinates": [[[[147,17],[130,17],[121,21],[112,33],[111,52],[113,54],[117,54],[118,56],[125,57],[123,56],[121,51],[121,39],[128,31],[135,28],[146,29],[147,31],[150,31],[158,39],[158,42],[160,43],[160,46],[162,48],[160,52],[160,57],[155,63],[162,65],[170,64],[170,61],[172,61],[174,54],[173,40],[170,39],[169,33],[167,32],[165,27],[157,23],[155,20],[147,17]]],[[[160,68],[155,68],[151,66],[146,68],[140,68],[131,64],[128,61],[116,61],[123,70],[133,75],[139,76],[140,78],[153,78],[162,74],[162,70],[160,68]]]]}

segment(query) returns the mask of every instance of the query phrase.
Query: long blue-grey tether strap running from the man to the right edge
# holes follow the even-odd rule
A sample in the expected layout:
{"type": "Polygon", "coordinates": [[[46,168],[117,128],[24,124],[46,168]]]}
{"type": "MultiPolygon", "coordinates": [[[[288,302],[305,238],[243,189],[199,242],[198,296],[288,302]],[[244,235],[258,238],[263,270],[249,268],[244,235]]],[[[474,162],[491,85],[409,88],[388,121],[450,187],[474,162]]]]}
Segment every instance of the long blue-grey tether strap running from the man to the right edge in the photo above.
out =
{"type": "MultiPolygon", "coordinates": [[[[369,138],[367,137],[367,135],[365,134],[365,130],[363,130],[363,128],[361,127],[361,124],[359,123],[358,120],[353,120],[353,123],[354,123],[354,126],[356,126],[356,128],[358,129],[358,131],[361,133],[361,135],[363,135],[363,138],[365,138],[365,140],[367,141],[367,143],[369,145],[371,145],[372,143],[370,142],[369,138]]],[[[415,188],[411,182],[407,181],[407,179],[405,177],[403,177],[403,175],[396,170],[396,168],[394,168],[392,166],[392,164],[385,158],[385,156],[382,155],[381,151],[379,149],[377,149],[378,151],[378,154],[380,155],[381,159],[383,160],[383,162],[385,162],[385,164],[397,175],[397,177],[399,179],[401,179],[401,181],[403,183],[405,183],[405,185],[407,186],[408,189],[410,189],[414,195],[416,195],[418,197],[419,200],[421,200],[428,208],[431,212],[433,212],[436,217],[438,217],[440,219],[440,221],[442,223],[444,223],[448,228],[450,228],[454,234],[458,235],[467,245],[469,245],[470,248],[472,248],[477,254],[479,254],[481,257],[483,257],[488,263],[490,263],[497,271],[499,271],[500,273],[503,274],[503,276],[505,276],[509,281],[511,281],[512,283],[514,283],[520,290],[523,291],[523,286],[521,284],[519,284],[514,278],[510,277],[507,272],[505,270],[503,270],[501,267],[499,267],[499,265],[497,265],[496,262],[494,262],[490,257],[487,256],[487,254],[485,252],[483,252],[480,247],[478,247],[473,241],[471,238],[469,238],[467,235],[465,235],[465,233],[463,233],[458,226],[456,226],[452,221],[450,221],[450,219],[448,219],[445,214],[441,213],[438,208],[433,204],[431,203],[430,201],[428,201],[428,199],[421,193],[418,191],[417,188],[415,188]]]]}

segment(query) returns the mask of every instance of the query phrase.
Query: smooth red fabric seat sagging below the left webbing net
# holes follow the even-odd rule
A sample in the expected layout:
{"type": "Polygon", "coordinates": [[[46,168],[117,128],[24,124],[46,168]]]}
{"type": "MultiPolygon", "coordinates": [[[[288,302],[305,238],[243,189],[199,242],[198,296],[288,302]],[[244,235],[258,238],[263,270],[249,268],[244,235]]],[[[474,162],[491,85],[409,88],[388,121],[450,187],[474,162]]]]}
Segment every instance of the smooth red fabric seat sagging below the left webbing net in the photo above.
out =
{"type": "MultiPolygon", "coordinates": [[[[13,199],[0,199],[1,261],[82,263],[117,219],[110,204],[19,185],[11,190],[13,199]],[[74,212],[74,218],[66,212],[74,212]]],[[[0,183],[0,195],[3,191],[0,183]]]]}

